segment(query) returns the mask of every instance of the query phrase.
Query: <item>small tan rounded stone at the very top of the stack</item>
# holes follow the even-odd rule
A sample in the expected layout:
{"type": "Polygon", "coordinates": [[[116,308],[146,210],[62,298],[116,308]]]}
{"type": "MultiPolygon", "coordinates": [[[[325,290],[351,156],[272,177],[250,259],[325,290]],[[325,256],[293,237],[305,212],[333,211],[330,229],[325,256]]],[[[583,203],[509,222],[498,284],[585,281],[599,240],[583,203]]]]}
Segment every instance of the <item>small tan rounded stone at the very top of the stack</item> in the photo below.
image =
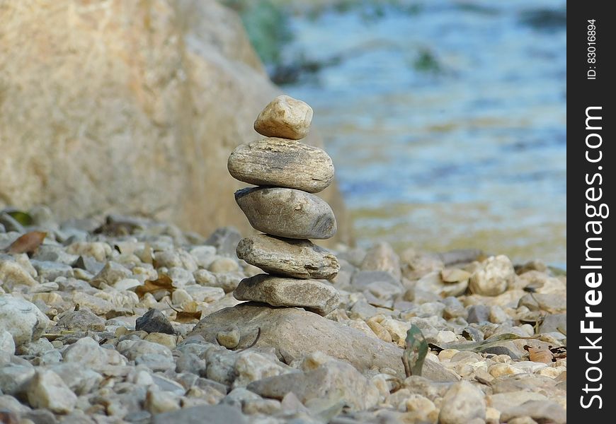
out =
{"type": "Polygon", "coordinates": [[[300,140],[308,135],[312,107],[302,100],[279,95],[259,114],[254,129],[266,137],[300,140]]]}

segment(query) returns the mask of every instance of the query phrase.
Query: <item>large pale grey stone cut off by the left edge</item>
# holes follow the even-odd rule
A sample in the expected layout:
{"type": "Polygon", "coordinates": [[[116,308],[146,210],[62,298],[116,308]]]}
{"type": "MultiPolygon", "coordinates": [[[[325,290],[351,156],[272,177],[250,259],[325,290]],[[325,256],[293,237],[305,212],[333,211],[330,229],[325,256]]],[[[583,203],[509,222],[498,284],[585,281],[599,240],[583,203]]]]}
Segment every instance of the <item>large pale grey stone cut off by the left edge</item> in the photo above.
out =
{"type": "Polygon", "coordinates": [[[49,318],[28,300],[0,295],[0,328],[11,333],[15,346],[37,340],[49,323],[49,318]]]}

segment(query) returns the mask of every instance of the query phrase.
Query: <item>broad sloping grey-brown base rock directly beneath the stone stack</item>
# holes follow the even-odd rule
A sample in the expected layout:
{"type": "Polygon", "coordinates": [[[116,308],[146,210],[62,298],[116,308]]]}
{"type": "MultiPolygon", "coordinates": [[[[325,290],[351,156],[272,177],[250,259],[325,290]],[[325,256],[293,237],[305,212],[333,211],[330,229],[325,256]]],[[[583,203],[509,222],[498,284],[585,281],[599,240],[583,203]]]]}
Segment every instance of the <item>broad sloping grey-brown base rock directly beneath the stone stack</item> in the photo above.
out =
{"type": "Polygon", "coordinates": [[[216,343],[216,335],[229,323],[240,331],[237,348],[246,348],[258,337],[255,346],[271,346],[283,362],[302,358],[314,351],[351,363],[361,372],[372,367],[390,368],[404,377],[402,350],[392,343],[368,338],[357,329],[295,308],[273,308],[255,302],[214,312],[202,319],[188,336],[201,335],[216,343]]]}

